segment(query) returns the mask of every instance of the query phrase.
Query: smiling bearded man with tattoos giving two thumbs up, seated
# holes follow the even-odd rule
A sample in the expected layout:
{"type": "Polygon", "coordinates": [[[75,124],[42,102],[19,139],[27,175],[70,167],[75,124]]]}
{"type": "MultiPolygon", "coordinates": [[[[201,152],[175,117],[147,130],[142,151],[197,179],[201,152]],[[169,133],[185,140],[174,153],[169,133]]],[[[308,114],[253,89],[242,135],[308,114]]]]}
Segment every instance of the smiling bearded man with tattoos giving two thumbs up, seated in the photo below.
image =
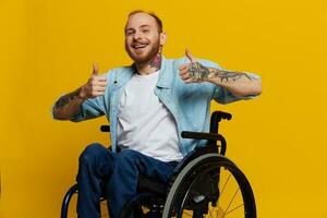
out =
{"type": "Polygon", "coordinates": [[[88,82],[53,107],[55,119],[77,122],[106,114],[111,126],[112,150],[92,144],[80,157],[81,218],[100,217],[101,194],[110,215],[118,217],[136,194],[138,174],[167,182],[175,162],[204,143],[180,134],[208,131],[211,99],[227,104],[262,92],[258,76],[223,71],[197,61],[187,50],[186,58],[166,59],[161,52],[167,36],[153,13],[130,13],[124,31],[125,50],[134,63],[105,76],[94,64],[88,82]]]}

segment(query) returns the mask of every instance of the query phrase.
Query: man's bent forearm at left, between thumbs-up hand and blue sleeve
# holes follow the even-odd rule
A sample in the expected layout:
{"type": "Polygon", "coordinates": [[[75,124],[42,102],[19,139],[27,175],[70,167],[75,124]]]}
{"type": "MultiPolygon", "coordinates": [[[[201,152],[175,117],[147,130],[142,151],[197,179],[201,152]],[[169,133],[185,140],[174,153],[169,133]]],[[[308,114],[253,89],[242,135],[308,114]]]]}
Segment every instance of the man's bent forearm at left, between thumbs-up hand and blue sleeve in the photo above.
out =
{"type": "Polygon", "coordinates": [[[81,105],[86,99],[81,95],[81,88],[60,97],[53,108],[52,114],[58,120],[71,120],[76,113],[78,113],[81,105]]]}

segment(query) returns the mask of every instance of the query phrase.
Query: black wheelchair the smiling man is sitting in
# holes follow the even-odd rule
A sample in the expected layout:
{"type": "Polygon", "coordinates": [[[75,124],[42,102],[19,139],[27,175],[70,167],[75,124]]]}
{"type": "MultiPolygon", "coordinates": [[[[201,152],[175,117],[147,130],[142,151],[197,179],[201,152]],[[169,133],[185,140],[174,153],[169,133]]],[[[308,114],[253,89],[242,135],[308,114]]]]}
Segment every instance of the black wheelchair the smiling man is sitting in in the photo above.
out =
{"type": "MultiPolygon", "coordinates": [[[[182,132],[183,138],[206,140],[206,146],[187,154],[174,168],[168,184],[140,175],[138,194],[126,203],[119,218],[256,218],[250,182],[237,165],[225,157],[227,142],[218,133],[219,122],[231,118],[230,113],[215,111],[209,133],[182,132]]],[[[100,130],[110,132],[109,125],[100,130]]],[[[77,192],[75,184],[65,193],[61,218],[69,217],[69,204],[77,192]]]]}

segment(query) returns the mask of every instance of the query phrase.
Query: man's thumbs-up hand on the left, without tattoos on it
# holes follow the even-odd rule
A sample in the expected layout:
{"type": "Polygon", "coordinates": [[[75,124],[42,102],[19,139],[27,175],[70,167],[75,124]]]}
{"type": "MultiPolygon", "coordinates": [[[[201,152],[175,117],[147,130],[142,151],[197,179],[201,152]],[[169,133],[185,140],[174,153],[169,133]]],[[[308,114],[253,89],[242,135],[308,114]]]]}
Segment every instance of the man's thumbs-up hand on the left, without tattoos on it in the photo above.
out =
{"type": "Polygon", "coordinates": [[[81,87],[80,97],[95,98],[105,95],[107,87],[107,77],[98,75],[99,68],[96,63],[93,64],[93,72],[87,83],[81,87]]]}

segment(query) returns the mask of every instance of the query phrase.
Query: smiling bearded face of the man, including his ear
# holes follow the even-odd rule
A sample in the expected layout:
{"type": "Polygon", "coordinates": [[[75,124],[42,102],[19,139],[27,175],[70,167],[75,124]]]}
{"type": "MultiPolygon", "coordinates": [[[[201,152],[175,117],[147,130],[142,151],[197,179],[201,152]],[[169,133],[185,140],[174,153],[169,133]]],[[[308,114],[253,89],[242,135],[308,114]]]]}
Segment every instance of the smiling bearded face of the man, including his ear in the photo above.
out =
{"type": "Polygon", "coordinates": [[[156,20],[146,13],[130,16],[125,26],[125,50],[136,63],[149,62],[166,41],[156,20]]]}

